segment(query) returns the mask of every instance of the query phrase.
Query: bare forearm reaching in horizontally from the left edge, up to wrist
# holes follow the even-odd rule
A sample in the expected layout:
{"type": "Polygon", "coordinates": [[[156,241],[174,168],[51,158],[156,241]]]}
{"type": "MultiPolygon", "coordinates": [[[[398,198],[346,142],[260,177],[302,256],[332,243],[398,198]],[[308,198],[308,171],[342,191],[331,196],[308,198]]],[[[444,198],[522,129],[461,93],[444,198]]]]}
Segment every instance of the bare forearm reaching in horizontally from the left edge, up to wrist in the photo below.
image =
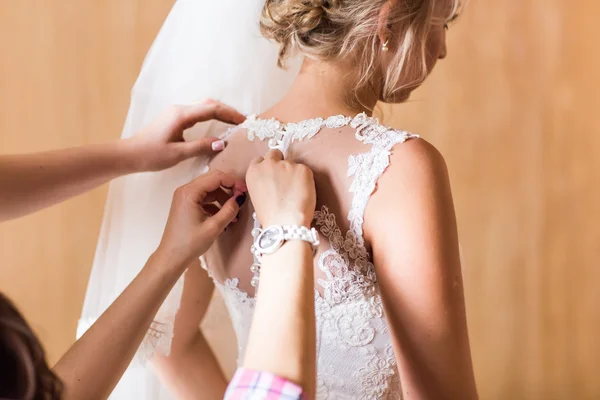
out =
{"type": "Polygon", "coordinates": [[[60,203],[135,171],[127,141],[0,156],[0,221],[60,203]]]}

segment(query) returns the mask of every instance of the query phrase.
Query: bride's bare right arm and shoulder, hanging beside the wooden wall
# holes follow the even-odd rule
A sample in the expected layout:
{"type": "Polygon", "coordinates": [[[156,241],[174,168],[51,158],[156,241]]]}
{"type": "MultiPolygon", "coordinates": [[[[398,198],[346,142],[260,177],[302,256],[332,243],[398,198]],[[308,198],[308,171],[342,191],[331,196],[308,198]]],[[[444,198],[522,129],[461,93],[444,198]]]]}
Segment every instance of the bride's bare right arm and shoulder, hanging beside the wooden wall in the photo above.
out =
{"type": "Polygon", "coordinates": [[[404,398],[476,399],[456,217],[433,146],[396,146],[365,221],[404,398]]]}

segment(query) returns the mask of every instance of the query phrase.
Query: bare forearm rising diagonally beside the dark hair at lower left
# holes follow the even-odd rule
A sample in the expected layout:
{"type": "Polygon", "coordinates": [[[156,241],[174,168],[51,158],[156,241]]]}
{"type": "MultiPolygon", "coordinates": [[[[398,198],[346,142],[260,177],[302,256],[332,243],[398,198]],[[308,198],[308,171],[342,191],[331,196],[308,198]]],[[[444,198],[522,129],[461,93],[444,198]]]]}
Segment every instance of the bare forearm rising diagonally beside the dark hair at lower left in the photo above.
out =
{"type": "Polygon", "coordinates": [[[164,299],[184,268],[153,255],[98,321],[60,359],[54,370],[66,399],[105,399],[112,392],[164,299]]]}

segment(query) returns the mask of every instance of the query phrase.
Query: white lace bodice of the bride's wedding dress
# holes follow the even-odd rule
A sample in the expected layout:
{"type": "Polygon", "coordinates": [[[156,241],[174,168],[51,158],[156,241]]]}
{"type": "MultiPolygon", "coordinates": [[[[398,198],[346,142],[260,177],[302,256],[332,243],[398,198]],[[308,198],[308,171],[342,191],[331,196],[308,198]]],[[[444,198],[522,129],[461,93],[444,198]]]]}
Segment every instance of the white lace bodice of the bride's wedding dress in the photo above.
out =
{"type": "MultiPolygon", "coordinates": [[[[292,143],[310,140],[323,128],[343,126],[354,130],[366,151],[348,158],[348,177],[352,182],[349,229],[342,232],[327,205],[315,213],[314,225],[329,243],[316,258],[316,268],[325,277],[318,280],[322,292],[315,288],[317,399],[399,399],[399,375],[375,268],[363,238],[363,221],[369,197],[389,165],[392,147],[415,135],[390,129],[365,114],[294,124],[252,116],[241,125],[247,129],[250,141],[268,140],[269,147],[280,148],[284,154],[292,143]]],[[[240,290],[238,278],[215,283],[229,310],[239,352],[243,354],[255,300],[240,290]]]]}

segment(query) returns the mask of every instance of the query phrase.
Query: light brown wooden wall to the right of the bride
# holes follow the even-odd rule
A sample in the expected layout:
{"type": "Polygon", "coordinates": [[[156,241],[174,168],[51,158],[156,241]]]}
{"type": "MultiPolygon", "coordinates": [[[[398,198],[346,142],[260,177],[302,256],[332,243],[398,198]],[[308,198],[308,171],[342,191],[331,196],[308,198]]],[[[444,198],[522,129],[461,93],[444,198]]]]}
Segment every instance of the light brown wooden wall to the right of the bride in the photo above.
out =
{"type": "Polygon", "coordinates": [[[387,121],[448,163],[483,399],[597,399],[598,2],[469,2],[387,121]]]}

